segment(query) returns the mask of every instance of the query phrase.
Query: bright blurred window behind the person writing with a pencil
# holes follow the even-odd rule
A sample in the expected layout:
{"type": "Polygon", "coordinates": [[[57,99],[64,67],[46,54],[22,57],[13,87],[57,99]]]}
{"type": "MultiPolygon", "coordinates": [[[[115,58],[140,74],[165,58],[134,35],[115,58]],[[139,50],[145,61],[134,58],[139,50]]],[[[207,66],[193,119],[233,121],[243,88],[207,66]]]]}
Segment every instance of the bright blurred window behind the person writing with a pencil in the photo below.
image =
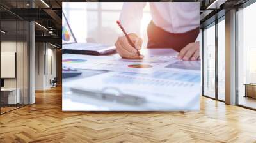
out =
{"type": "MultiPolygon", "coordinates": [[[[122,11],[123,2],[119,3],[63,3],[67,20],[74,36],[79,42],[104,43],[114,45],[116,38],[123,35],[116,24],[122,11]]],[[[143,10],[141,36],[143,47],[147,45],[147,26],[151,20],[149,4],[143,10]]]]}

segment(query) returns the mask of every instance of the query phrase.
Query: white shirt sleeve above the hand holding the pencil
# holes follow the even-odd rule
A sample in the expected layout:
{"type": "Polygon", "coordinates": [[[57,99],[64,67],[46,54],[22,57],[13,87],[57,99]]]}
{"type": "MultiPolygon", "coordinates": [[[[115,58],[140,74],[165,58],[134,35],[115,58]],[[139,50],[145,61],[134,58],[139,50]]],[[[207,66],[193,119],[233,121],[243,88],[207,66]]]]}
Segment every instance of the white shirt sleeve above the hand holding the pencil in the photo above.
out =
{"type": "Polygon", "coordinates": [[[125,2],[123,4],[120,22],[127,33],[136,33],[140,36],[140,25],[145,6],[146,2],[125,2]]]}

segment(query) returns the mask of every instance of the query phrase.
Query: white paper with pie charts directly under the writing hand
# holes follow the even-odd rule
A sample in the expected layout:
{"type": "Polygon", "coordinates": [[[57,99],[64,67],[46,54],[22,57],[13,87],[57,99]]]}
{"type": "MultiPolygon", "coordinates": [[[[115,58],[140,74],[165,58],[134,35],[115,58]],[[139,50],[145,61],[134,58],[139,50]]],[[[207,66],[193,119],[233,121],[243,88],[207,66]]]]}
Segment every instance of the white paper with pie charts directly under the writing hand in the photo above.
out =
{"type": "Polygon", "coordinates": [[[168,70],[172,68],[170,65],[178,61],[181,60],[178,60],[176,56],[145,56],[143,59],[123,59],[118,55],[77,56],[74,54],[63,54],[63,66],[116,72],[152,73],[165,67],[168,70]]]}

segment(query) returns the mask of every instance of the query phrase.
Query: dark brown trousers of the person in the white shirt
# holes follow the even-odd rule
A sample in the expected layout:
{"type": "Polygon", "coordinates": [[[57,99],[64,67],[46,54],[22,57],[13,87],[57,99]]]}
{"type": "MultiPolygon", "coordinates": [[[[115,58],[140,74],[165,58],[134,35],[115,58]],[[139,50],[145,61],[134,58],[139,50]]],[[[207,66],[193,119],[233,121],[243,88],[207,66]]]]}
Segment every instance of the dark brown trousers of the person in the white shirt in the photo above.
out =
{"type": "Polygon", "coordinates": [[[188,43],[195,42],[199,27],[186,33],[169,33],[157,27],[152,21],[148,24],[148,48],[172,48],[180,52],[188,43]]]}

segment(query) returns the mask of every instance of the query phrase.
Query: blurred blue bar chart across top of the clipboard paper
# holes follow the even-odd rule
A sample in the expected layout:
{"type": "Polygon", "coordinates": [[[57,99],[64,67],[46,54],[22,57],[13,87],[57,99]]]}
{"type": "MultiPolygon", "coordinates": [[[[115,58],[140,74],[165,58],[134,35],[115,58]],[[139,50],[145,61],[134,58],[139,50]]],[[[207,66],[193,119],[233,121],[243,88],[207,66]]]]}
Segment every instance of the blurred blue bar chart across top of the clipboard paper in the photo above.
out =
{"type": "Polygon", "coordinates": [[[106,77],[104,82],[108,84],[132,84],[143,86],[194,86],[200,82],[199,74],[178,72],[154,72],[151,74],[121,72],[106,77]]]}

